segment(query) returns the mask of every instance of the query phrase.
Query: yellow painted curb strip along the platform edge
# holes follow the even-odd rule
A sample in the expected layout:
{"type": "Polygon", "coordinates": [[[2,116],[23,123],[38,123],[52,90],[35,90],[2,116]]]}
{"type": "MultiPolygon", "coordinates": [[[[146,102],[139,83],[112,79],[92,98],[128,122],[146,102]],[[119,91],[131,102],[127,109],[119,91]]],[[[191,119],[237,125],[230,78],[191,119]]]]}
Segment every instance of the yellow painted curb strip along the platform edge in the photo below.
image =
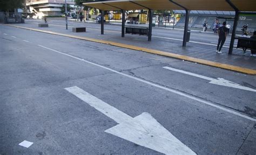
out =
{"type": "MultiPolygon", "coordinates": [[[[6,25],[6,24],[1,24],[1,25],[6,25]]],[[[52,32],[52,31],[32,29],[32,28],[16,26],[16,25],[6,25],[6,26],[12,26],[12,27],[20,28],[20,29],[32,30],[32,31],[37,31],[37,32],[44,32],[44,33],[49,33],[49,34],[55,34],[55,35],[58,35],[58,36],[82,39],[82,40],[92,41],[92,42],[95,42],[95,43],[107,44],[107,45],[112,45],[112,46],[117,46],[117,47],[123,47],[123,48],[128,48],[128,49],[131,49],[131,50],[143,51],[143,52],[147,52],[147,53],[163,55],[163,56],[166,56],[166,57],[182,59],[182,60],[191,61],[191,62],[197,62],[198,64],[203,64],[203,65],[228,69],[230,71],[256,75],[256,70],[254,70],[254,69],[248,69],[248,68],[243,68],[243,67],[238,67],[238,66],[233,66],[233,65],[221,64],[219,62],[213,62],[213,61],[208,61],[208,60],[204,60],[204,59],[188,57],[188,56],[185,56],[185,55],[163,52],[163,51],[159,51],[159,50],[152,50],[150,48],[138,47],[138,46],[127,45],[127,44],[122,44],[122,43],[115,43],[115,42],[112,42],[112,41],[99,40],[99,39],[93,39],[93,38],[87,38],[87,37],[73,36],[73,35],[70,35],[70,34],[63,34],[63,33],[52,32]]]]}

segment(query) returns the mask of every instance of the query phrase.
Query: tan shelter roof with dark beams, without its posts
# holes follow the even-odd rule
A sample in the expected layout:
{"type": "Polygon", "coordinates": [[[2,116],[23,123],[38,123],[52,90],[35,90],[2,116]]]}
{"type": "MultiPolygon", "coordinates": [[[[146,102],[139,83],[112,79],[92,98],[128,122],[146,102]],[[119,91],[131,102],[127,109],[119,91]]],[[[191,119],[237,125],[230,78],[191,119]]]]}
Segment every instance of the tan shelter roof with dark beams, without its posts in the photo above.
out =
{"type": "MultiPolygon", "coordinates": [[[[207,11],[234,11],[226,0],[112,0],[103,2],[87,2],[86,6],[100,10],[207,10],[207,11]],[[182,8],[181,6],[184,8],[182,8]]],[[[255,0],[230,0],[239,11],[256,11],[255,0]]]]}

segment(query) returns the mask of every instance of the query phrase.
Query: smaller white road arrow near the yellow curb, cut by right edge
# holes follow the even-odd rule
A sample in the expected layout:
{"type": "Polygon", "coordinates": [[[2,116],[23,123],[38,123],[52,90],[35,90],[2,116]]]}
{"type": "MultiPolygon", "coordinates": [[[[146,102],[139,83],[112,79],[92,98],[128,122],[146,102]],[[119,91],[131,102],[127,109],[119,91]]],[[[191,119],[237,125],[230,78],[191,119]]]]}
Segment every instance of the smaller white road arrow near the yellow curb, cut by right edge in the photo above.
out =
{"type": "Polygon", "coordinates": [[[196,76],[197,78],[209,80],[210,81],[209,83],[212,83],[212,84],[218,84],[220,86],[226,86],[226,87],[232,87],[232,88],[237,88],[237,89],[242,89],[242,90],[248,90],[248,91],[256,92],[255,89],[244,87],[244,86],[241,86],[238,83],[234,83],[234,82],[222,79],[222,78],[213,79],[213,78],[208,78],[207,76],[203,76],[203,75],[198,75],[198,74],[182,71],[182,70],[179,70],[179,69],[176,69],[176,68],[171,68],[171,67],[163,67],[163,68],[169,69],[169,70],[174,71],[174,72],[179,72],[179,73],[183,73],[183,74],[187,74],[187,75],[191,75],[191,76],[196,76]]]}

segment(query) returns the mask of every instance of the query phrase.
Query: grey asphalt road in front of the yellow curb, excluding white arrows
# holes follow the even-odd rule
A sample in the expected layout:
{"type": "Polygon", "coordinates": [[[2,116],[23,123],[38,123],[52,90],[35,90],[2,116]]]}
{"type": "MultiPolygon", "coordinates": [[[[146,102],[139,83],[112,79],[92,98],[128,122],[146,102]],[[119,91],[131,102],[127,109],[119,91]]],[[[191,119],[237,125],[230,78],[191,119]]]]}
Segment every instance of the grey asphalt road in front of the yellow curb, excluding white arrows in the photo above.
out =
{"type": "Polygon", "coordinates": [[[252,89],[255,76],[2,25],[0,36],[1,155],[161,154],[104,132],[119,122],[65,89],[74,86],[131,117],[148,112],[197,154],[256,152],[255,92],[163,67],[252,89]]]}

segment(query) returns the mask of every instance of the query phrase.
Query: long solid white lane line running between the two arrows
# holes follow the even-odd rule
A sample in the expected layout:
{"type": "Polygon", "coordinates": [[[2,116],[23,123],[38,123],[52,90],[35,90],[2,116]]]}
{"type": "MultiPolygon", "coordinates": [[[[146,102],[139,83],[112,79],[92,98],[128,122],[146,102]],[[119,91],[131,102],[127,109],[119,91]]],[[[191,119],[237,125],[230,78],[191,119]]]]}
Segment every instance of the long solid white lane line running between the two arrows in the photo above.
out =
{"type": "Polygon", "coordinates": [[[160,89],[164,89],[164,90],[166,90],[166,91],[170,91],[171,93],[178,94],[178,95],[180,95],[180,96],[184,96],[184,97],[190,98],[190,99],[195,100],[195,101],[198,101],[198,102],[200,102],[200,103],[204,103],[204,104],[210,105],[211,107],[215,107],[215,108],[217,108],[217,109],[220,109],[220,110],[224,110],[224,111],[226,111],[226,112],[229,112],[229,113],[231,113],[231,114],[233,114],[233,115],[240,116],[240,117],[242,117],[242,118],[246,118],[246,119],[249,119],[249,120],[251,120],[251,121],[256,122],[256,119],[254,119],[254,118],[251,118],[251,117],[246,116],[246,115],[242,115],[242,114],[240,114],[240,113],[238,113],[238,112],[232,111],[232,110],[230,110],[230,109],[226,109],[226,108],[224,108],[224,107],[220,107],[219,105],[215,105],[215,104],[213,104],[213,103],[206,102],[206,101],[201,100],[201,99],[199,99],[199,98],[196,98],[196,97],[193,97],[193,96],[190,96],[190,95],[186,95],[186,94],[181,93],[181,92],[179,92],[179,91],[177,91],[177,90],[172,90],[172,89],[169,89],[169,88],[166,88],[166,87],[163,87],[163,86],[159,86],[158,84],[154,84],[154,83],[149,82],[149,81],[145,81],[145,80],[142,80],[142,79],[139,79],[139,78],[136,78],[136,77],[133,77],[133,76],[124,74],[124,73],[120,73],[120,72],[118,72],[118,71],[115,71],[115,70],[113,70],[113,69],[104,67],[104,66],[102,66],[102,65],[98,65],[98,64],[95,64],[95,63],[93,63],[93,62],[90,62],[90,61],[87,61],[87,60],[84,60],[84,59],[80,59],[80,58],[74,57],[74,56],[72,56],[72,55],[70,55],[70,54],[62,53],[62,52],[53,50],[53,49],[51,49],[51,48],[48,48],[48,47],[45,47],[45,46],[42,46],[42,45],[38,45],[38,46],[43,47],[43,48],[45,48],[45,49],[47,49],[47,50],[51,50],[51,51],[53,51],[53,52],[57,52],[57,53],[59,53],[59,54],[66,55],[66,56],[68,56],[68,57],[71,57],[71,58],[74,58],[74,59],[77,59],[77,60],[80,60],[80,61],[84,61],[84,62],[86,62],[86,63],[88,63],[88,64],[95,65],[95,66],[98,66],[98,67],[100,67],[100,68],[104,68],[104,69],[106,69],[106,70],[109,70],[109,71],[111,71],[111,72],[114,72],[114,73],[117,73],[117,74],[126,76],[126,77],[128,77],[128,78],[131,78],[131,79],[134,79],[134,80],[137,80],[137,81],[146,83],[146,84],[150,84],[151,86],[154,86],[154,87],[157,87],[157,88],[160,88],[160,89]]]}

